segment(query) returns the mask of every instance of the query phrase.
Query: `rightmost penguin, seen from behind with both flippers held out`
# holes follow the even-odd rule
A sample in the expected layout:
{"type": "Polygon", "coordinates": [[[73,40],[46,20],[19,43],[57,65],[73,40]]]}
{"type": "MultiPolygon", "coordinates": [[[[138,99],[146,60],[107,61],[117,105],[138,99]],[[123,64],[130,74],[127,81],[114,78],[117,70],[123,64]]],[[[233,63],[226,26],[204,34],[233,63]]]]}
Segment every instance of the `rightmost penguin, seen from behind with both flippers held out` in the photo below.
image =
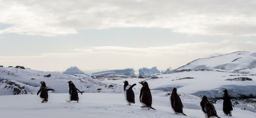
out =
{"type": "Polygon", "coordinates": [[[223,100],[223,112],[225,115],[232,116],[231,112],[233,110],[233,107],[231,99],[234,97],[229,97],[226,89],[224,89],[222,92],[224,92],[224,96],[219,97],[219,99],[223,100]]]}

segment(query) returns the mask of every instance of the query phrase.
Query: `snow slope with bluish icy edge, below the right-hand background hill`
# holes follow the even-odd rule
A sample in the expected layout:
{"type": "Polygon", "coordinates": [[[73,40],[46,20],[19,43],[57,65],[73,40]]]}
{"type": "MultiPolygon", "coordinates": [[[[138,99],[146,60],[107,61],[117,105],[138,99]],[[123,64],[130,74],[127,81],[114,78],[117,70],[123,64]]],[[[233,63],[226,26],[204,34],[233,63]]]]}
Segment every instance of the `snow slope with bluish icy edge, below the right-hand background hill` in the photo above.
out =
{"type": "Polygon", "coordinates": [[[189,71],[172,74],[156,75],[158,79],[147,80],[154,83],[152,89],[172,91],[176,87],[180,92],[193,94],[199,97],[206,95],[207,98],[218,98],[223,96],[223,89],[227,89],[229,95],[240,97],[240,95],[256,96],[256,76],[243,74],[240,76],[229,76],[233,73],[218,71],[189,71]],[[191,77],[193,79],[180,78],[191,77]],[[253,81],[225,81],[237,77],[248,77],[253,81]]]}

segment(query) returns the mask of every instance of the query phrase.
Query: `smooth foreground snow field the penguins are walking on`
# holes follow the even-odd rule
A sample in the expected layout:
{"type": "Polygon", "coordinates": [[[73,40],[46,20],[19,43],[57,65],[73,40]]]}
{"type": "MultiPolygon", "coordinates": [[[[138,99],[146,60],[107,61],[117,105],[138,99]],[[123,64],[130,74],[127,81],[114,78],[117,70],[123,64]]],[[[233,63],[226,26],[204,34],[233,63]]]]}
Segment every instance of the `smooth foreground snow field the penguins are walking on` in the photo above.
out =
{"type": "MultiPolygon", "coordinates": [[[[79,94],[79,103],[66,102],[68,96],[67,93],[51,93],[48,103],[41,103],[36,94],[2,95],[1,118],[204,118],[203,112],[196,107],[201,100],[191,96],[181,95],[183,112],[187,116],[173,113],[169,96],[153,96],[152,107],[157,110],[140,108],[138,94],[135,95],[136,103],[131,106],[126,105],[121,93],[83,93],[79,94]]],[[[231,118],[223,115],[221,104],[214,106],[221,118],[231,118]]],[[[232,115],[232,118],[256,118],[256,113],[239,108],[234,108],[232,115]]]]}

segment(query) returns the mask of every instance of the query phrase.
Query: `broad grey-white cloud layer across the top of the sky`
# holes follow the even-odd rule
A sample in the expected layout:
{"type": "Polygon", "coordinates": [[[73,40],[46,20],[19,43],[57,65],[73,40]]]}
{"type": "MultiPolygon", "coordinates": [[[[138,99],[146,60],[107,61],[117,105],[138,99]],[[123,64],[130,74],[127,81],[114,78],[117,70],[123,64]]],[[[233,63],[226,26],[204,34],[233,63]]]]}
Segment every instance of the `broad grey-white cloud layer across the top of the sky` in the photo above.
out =
{"type": "Polygon", "coordinates": [[[58,36],[82,29],[165,28],[189,35],[255,36],[255,2],[246,1],[0,1],[4,33],[58,36]]]}

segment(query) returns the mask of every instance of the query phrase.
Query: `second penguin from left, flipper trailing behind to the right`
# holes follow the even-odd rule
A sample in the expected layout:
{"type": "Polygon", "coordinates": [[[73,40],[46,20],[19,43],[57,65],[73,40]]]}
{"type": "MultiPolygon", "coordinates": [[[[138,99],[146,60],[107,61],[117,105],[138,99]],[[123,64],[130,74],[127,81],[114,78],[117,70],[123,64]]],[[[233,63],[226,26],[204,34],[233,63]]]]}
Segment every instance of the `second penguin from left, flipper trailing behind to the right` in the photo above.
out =
{"type": "MultiPolygon", "coordinates": [[[[69,81],[67,83],[69,83],[69,101],[67,101],[67,102],[71,102],[73,100],[78,102],[79,98],[78,98],[78,93],[76,91],[78,89],[75,87],[75,85],[72,81],[69,81]]],[[[82,94],[82,92],[80,90],[78,90],[78,91],[82,94]]]]}

